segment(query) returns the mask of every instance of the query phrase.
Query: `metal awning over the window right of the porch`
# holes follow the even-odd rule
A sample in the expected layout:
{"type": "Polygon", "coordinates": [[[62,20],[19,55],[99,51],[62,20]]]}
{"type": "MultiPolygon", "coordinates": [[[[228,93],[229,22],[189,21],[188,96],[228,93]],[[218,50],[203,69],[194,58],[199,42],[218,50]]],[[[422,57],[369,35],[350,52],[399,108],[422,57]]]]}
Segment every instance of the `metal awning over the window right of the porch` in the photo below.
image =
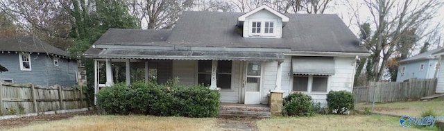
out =
{"type": "Polygon", "coordinates": [[[295,75],[334,75],[332,57],[293,57],[292,72],[295,75]]]}

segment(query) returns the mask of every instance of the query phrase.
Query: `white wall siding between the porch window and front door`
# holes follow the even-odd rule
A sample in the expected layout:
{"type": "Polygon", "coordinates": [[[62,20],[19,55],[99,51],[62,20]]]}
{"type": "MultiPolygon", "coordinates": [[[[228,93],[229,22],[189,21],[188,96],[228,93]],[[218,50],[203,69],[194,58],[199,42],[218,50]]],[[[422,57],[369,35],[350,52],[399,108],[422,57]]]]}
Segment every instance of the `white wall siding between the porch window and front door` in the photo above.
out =
{"type": "Polygon", "coordinates": [[[232,62],[232,76],[231,87],[232,89],[221,89],[221,102],[222,103],[239,103],[239,77],[240,74],[240,62],[232,62]]]}

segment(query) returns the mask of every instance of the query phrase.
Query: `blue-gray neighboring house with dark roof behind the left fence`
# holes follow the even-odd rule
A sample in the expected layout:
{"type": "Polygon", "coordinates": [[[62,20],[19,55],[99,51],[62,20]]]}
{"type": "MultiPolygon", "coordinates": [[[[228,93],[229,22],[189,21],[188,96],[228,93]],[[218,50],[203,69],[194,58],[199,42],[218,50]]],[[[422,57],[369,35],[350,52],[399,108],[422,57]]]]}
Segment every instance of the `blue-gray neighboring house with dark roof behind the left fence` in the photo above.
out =
{"type": "Polygon", "coordinates": [[[1,80],[35,85],[76,85],[77,61],[33,37],[0,39],[1,80]]]}

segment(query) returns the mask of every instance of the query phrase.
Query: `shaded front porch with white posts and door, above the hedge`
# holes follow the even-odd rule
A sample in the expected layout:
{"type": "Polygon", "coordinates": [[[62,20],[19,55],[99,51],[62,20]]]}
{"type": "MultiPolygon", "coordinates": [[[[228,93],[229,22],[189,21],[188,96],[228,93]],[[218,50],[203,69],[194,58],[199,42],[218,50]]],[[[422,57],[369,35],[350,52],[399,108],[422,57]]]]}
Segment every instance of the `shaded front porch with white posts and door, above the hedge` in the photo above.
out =
{"type": "Polygon", "coordinates": [[[280,89],[278,61],[95,59],[95,92],[117,82],[162,84],[179,78],[180,85],[217,89],[221,103],[268,104],[271,90],[280,89]],[[105,72],[105,73],[103,73],[105,72]],[[124,72],[124,73],[123,73],[124,72]],[[125,77],[123,77],[125,76],[125,77]]]}

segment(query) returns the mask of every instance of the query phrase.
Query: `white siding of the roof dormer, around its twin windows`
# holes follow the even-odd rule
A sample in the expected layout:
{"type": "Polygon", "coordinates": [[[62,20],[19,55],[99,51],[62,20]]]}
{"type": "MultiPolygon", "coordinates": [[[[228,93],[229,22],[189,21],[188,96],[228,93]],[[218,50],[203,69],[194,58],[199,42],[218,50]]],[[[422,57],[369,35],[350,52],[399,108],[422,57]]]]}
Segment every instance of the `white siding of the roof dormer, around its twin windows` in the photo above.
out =
{"type": "MultiPolygon", "coordinates": [[[[256,12],[253,15],[250,15],[248,17],[246,17],[245,21],[244,21],[244,32],[243,35],[244,37],[255,37],[253,35],[250,35],[250,21],[251,20],[259,20],[259,21],[276,21],[275,23],[275,28],[273,29],[273,31],[275,32],[275,38],[280,38],[282,37],[282,19],[276,15],[274,15],[271,12],[268,12],[268,10],[261,10],[256,12]]],[[[263,28],[261,28],[261,30],[264,30],[263,28]]]]}

